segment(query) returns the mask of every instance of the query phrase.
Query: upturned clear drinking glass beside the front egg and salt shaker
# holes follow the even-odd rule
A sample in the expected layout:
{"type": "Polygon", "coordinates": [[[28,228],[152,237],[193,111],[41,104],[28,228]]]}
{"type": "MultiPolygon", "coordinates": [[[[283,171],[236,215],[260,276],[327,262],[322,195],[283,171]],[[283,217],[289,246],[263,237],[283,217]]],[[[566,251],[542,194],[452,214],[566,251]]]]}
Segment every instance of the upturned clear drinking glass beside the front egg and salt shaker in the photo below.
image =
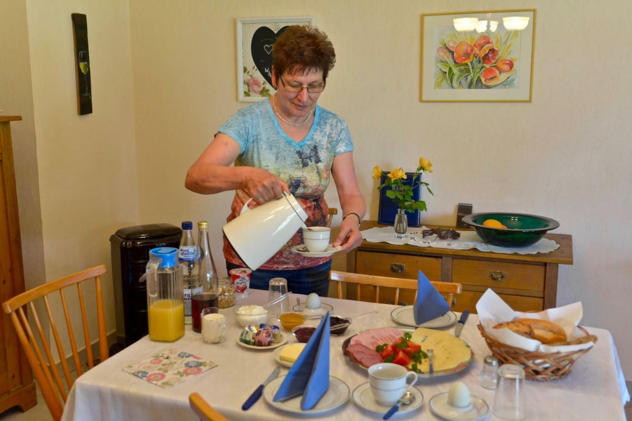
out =
{"type": "Polygon", "coordinates": [[[503,420],[518,421],[526,417],[525,369],[503,364],[498,369],[499,382],[492,412],[503,420]]]}

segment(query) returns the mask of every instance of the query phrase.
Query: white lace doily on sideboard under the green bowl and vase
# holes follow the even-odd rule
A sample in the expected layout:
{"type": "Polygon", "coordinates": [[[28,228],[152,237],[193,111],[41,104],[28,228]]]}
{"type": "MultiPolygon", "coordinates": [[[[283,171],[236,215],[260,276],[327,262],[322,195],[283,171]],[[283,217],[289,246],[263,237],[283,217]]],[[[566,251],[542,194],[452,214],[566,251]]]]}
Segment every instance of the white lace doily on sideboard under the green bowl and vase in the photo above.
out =
{"type": "Polygon", "coordinates": [[[535,244],[526,247],[498,247],[485,243],[475,231],[458,231],[461,233],[461,237],[458,240],[441,240],[436,235],[431,235],[423,238],[423,229],[428,229],[425,226],[419,228],[408,228],[407,238],[395,238],[395,230],[392,226],[370,228],[362,231],[362,237],[370,243],[389,243],[395,245],[410,244],[418,247],[434,247],[434,248],[453,248],[456,250],[467,250],[468,248],[476,248],[481,252],[503,253],[503,254],[535,254],[535,253],[549,253],[559,248],[553,240],[542,238],[535,244]]]}

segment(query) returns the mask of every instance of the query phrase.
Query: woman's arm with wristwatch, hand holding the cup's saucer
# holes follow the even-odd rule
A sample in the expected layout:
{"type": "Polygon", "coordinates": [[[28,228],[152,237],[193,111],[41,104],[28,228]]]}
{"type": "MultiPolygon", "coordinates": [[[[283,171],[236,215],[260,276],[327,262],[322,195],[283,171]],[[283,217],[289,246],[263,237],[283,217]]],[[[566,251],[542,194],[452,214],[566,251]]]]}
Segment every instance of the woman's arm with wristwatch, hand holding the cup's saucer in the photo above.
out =
{"type": "Polygon", "coordinates": [[[367,211],[353,166],[353,152],[344,152],[344,154],[335,157],[331,171],[334,181],[336,181],[336,189],[340,205],[343,208],[343,215],[348,215],[348,217],[343,219],[340,233],[332,245],[334,247],[342,245],[343,250],[341,251],[349,252],[349,250],[353,250],[362,243],[362,235],[358,224],[367,211]],[[358,214],[358,217],[351,215],[351,212],[358,214]]]}

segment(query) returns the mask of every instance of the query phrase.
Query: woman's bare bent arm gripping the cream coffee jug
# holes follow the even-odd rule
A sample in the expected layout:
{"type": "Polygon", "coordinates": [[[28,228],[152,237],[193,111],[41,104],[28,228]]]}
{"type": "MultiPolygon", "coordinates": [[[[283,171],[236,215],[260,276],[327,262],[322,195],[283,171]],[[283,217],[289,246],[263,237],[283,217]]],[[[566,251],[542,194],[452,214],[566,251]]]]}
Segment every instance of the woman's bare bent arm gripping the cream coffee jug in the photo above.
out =
{"type": "Polygon", "coordinates": [[[265,169],[231,166],[239,153],[240,145],[236,140],[225,133],[217,133],[186,173],[185,187],[203,195],[243,188],[258,204],[289,191],[283,180],[265,169]]]}

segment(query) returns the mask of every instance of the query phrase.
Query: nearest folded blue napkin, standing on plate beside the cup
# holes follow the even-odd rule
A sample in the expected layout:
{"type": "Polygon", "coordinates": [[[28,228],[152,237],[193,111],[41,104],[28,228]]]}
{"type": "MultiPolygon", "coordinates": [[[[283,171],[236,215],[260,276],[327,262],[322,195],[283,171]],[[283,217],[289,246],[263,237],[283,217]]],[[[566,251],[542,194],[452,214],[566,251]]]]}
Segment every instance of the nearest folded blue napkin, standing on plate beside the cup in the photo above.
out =
{"type": "Polygon", "coordinates": [[[273,401],[285,401],[303,395],[301,410],[313,408],[329,388],[329,312],[305,345],[298,360],[289,369],[274,394],[273,401]]]}

